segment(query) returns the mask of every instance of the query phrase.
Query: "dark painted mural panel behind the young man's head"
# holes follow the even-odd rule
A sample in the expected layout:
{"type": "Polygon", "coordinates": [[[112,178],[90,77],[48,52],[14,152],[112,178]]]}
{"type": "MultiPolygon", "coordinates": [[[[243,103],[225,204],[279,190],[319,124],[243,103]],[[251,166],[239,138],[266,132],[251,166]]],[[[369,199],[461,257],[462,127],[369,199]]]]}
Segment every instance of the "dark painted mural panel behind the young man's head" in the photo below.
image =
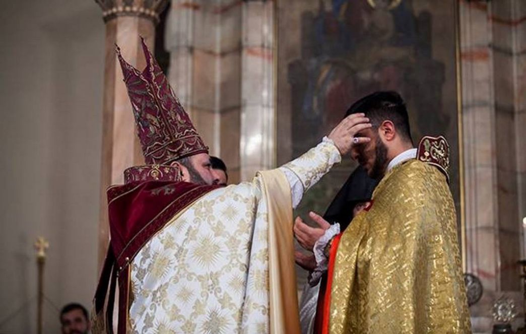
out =
{"type": "MultiPolygon", "coordinates": [[[[351,103],[376,90],[407,102],[415,145],[444,135],[460,218],[456,2],[278,2],[278,162],[316,145],[351,103]]],[[[323,212],[355,163],[346,158],[305,197],[298,214],[323,212]]],[[[460,219],[459,219],[460,222],[460,219]]]]}

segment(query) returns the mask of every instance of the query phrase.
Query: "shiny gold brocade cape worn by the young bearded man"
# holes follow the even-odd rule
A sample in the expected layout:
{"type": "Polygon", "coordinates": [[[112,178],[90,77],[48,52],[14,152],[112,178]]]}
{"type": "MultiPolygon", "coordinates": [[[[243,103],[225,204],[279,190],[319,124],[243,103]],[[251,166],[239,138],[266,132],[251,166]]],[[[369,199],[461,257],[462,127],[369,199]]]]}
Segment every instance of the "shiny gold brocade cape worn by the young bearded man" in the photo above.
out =
{"type": "Polygon", "coordinates": [[[446,176],[411,159],[343,232],[330,289],[330,333],[470,333],[446,176]]]}

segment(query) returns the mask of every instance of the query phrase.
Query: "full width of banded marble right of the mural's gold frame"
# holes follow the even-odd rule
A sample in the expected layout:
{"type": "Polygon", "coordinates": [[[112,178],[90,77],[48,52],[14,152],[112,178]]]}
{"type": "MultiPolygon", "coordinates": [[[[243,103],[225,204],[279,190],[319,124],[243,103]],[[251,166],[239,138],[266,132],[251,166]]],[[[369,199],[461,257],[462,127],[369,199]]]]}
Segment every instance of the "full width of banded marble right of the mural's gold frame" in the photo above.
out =
{"type": "Polygon", "coordinates": [[[471,307],[473,332],[491,332],[491,307],[502,295],[522,311],[523,3],[460,2],[466,270],[484,290],[471,307]]]}

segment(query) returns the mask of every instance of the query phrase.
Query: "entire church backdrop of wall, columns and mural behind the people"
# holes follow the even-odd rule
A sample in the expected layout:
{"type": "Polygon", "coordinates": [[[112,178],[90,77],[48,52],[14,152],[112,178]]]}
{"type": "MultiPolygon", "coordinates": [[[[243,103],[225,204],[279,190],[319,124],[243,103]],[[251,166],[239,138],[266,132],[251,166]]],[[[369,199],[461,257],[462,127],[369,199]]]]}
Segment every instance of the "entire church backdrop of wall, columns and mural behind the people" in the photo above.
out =
{"type": "MultiPolygon", "coordinates": [[[[523,0],[26,0],[3,2],[0,333],[36,332],[34,242],[49,242],[44,332],[90,308],[107,247],[105,189],[141,161],[115,43],[146,38],[231,183],[296,157],[377,89],[407,97],[415,134],[452,144],[463,266],[482,291],[473,332],[511,298],[524,326],[523,0]],[[340,115],[341,114],[341,115],[340,115]],[[429,124],[432,124],[429,127],[429,124]],[[426,127],[427,125],[427,127],[426,127]]],[[[297,210],[325,209],[347,159],[297,210]]],[[[305,281],[298,267],[298,286],[305,281]]]]}

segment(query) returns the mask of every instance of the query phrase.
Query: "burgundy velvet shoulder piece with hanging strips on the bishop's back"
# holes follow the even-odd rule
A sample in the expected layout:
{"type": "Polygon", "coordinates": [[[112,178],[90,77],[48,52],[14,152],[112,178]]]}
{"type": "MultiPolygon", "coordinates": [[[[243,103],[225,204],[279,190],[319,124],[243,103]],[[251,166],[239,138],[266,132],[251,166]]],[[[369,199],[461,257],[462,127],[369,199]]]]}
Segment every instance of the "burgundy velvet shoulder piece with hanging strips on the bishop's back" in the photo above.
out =
{"type": "MultiPolygon", "coordinates": [[[[187,182],[147,181],[110,187],[107,191],[109,228],[112,239],[95,294],[95,311],[104,307],[109,287],[108,306],[115,297],[118,276],[118,333],[126,332],[129,301],[129,264],[144,244],[171,218],[217,185],[187,182]],[[110,277],[113,277],[110,284],[110,277]]],[[[111,325],[113,308],[107,308],[111,325]]],[[[109,326],[110,327],[110,326],[109,326]]],[[[110,327],[111,328],[111,327],[110,327]]]]}

